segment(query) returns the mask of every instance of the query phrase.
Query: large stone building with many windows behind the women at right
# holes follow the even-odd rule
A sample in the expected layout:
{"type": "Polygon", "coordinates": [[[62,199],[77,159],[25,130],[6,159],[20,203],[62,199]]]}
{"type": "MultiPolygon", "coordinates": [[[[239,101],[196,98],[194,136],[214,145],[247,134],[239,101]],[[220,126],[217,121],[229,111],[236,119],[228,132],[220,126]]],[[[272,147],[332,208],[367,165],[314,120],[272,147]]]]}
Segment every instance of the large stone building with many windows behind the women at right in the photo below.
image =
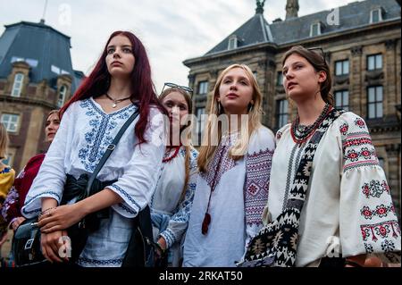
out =
{"type": "Polygon", "coordinates": [[[331,64],[336,106],[367,122],[399,215],[400,1],[366,0],[302,17],[298,8],[297,0],[288,0],[286,19],[268,23],[264,1],[257,1],[255,15],[239,29],[206,54],[183,62],[195,90],[195,114],[199,118],[208,109],[219,73],[231,63],[245,63],[264,95],[264,124],[278,130],[296,113],[281,85],[282,55],[295,45],[321,47],[331,64]]]}

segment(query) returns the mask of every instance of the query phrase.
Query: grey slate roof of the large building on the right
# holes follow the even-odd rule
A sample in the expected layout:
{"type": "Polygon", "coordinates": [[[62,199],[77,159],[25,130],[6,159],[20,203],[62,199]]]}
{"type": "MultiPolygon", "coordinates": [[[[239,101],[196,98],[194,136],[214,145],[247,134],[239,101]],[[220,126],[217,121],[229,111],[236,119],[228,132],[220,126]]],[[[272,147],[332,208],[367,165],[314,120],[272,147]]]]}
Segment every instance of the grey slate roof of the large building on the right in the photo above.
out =
{"type": "MultiPolygon", "coordinates": [[[[240,40],[238,48],[254,46],[261,43],[272,43],[278,46],[298,42],[310,37],[310,26],[322,22],[322,35],[369,26],[370,12],[373,8],[383,8],[383,21],[400,19],[400,5],[395,0],[366,0],[353,2],[339,7],[339,25],[329,25],[327,17],[333,10],[309,14],[303,17],[290,18],[286,21],[274,21],[268,24],[262,13],[255,15],[239,29],[224,38],[217,46],[204,56],[228,51],[229,39],[236,35],[240,40]]],[[[320,37],[320,36],[316,36],[320,37]]]]}

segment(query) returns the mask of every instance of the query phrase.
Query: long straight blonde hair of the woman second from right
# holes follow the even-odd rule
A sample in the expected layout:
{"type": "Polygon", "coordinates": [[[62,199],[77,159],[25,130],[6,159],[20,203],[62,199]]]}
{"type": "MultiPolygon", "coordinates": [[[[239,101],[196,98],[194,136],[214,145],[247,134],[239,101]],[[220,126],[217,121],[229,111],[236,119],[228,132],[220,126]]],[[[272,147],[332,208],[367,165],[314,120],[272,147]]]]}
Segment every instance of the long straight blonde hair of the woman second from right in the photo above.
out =
{"type": "Polygon", "coordinates": [[[206,122],[203,143],[199,148],[197,163],[200,172],[206,172],[208,164],[214,157],[214,153],[217,148],[215,144],[212,145],[209,143],[209,139],[212,138],[212,134],[218,134],[219,141],[217,145],[219,145],[222,140],[222,126],[218,123],[217,120],[215,120],[215,116],[220,116],[222,113],[224,113],[224,110],[222,110],[223,108],[218,107],[220,103],[218,103],[216,98],[219,97],[219,88],[221,87],[223,77],[226,75],[226,73],[234,68],[240,68],[246,72],[247,78],[248,80],[250,80],[253,87],[252,100],[254,101],[254,105],[251,105],[251,108],[249,108],[248,110],[248,120],[241,120],[239,139],[236,141],[234,146],[230,147],[229,150],[229,155],[232,159],[239,160],[244,156],[248,149],[248,142],[251,134],[259,127],[261,127],[261,115],[263,113],[263,96],[253,75],[253,71],[251,71],[250,68],[245,64],[232,64],[224,71],[222,71],[214,86],[214,96],[211,100],[211,106],[209,110],[208,120],[206,122]]]}

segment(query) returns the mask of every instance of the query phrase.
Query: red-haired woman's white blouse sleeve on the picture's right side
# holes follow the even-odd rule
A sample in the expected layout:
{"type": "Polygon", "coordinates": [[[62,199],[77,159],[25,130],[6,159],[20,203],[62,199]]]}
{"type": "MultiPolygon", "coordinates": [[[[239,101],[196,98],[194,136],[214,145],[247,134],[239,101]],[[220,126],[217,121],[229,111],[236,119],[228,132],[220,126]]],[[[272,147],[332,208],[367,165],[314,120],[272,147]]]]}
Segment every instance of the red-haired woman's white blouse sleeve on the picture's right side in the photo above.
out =
{"type": "Polygon", "coordinates": [[[162,115],[156,114],[151,109],[151,120],[145,133],[147,143],[134,147],[123,175],[108,187],[123,199],[122,203],[112,206],[113,210],[128,218],[135,217],[149,204],[159,177],[159,171],[155,170],[161,170],[165,133],[162,115]]]}

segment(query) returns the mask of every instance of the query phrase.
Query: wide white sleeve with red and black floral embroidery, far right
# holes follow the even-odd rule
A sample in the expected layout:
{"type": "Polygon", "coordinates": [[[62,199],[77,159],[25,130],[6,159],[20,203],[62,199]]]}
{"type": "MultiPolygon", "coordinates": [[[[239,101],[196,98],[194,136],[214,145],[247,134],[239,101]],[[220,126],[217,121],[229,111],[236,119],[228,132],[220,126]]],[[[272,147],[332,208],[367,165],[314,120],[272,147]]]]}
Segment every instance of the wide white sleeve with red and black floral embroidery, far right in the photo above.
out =
{"type": "Polygon", "coordinates": [[[385,173],[364,120],[345,113],[339,126],[343,150],[340,241],[343,256],[400,252],[401,240],[385,173]]]}

